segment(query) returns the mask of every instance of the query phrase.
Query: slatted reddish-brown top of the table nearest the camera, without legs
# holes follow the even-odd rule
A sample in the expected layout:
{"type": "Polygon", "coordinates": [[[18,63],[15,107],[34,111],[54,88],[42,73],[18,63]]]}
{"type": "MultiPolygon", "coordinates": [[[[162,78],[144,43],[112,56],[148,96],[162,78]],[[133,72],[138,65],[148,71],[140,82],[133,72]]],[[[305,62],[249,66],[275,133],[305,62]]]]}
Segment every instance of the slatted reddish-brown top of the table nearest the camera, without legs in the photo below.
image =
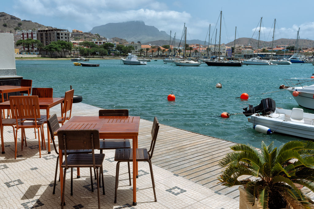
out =
{"type": "Polygon", "coordinates": [[[132,139],[138,135],[139,121],[139,116],[74,116],[58,130],[97,129],[101,139],[132,139]]]}

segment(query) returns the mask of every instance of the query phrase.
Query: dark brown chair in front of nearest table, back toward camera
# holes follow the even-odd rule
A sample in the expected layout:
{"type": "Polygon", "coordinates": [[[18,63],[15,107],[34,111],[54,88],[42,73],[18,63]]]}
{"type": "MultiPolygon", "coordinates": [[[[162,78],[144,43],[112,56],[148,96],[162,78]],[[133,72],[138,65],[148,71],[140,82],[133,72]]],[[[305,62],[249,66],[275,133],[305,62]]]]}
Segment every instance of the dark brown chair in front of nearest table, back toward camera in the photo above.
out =
{"type": "MultiPolygon", "coordinates": [[[[92,168],[96,169],[97,179],[99,179],[99,168],[101,169],[102,188],[104,190],[104,174],[102,169],[102,163],[105,159],[105,154],[95,154],[94,149],[99,148],[99,131],[98,130],[59,130],[58,131],[59,148],[64,150],[65,160],[61,167],[64,168],[63,173],[63,192],[61,198],[61,208],[64,207],[64,191],[65,191],[65,177],[67,170],[71,168],[71,174],[73,173],[73,167],[86,167],[89,168],[90,174],[92,174],[92,168]],[[92,154],[67,154],[67,150],[79,150],[79,149],[91,149],[92,154]]],[[[71,181],[71,186],[73,181],[71,181]]],[[[72,193],[72,192],[71,192],[72,193]]],[[[97,181],[97,197],[98,197],[98,209],[100,209],[100,195],[99,195],[99,183],[97,181]]]]}

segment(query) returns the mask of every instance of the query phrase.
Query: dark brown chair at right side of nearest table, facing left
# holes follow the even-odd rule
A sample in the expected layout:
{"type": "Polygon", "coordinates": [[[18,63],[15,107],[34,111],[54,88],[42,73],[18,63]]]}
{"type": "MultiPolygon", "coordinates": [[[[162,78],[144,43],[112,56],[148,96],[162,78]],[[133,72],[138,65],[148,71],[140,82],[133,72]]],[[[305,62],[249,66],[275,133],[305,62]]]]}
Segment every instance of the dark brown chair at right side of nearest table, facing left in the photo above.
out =
{"type": "MultiPolygon", "coordinates": [[[[153,191],[154,191],[154,198],[155,202],[157,202],[156,199],[156,192],[155,192],[155,181],[154,181],[154,175],[153,175],[153,167],[152,167],[152,156],[156,144],[156,138],[158,135],[159,130],[159,122],[157,120],[157,117],[154,118],[154,123],[151,131],[152,136],[152,142],[150,144],[149,151],[147,151],[146,148],[138,148],[136,149],[136,161],[146,161],[149,163],[149,170],[150,170],[150,176],[152,178],[152,184],[153,184],[153,191]]],[[[135,148],[135,147],[133,147],[135,148]]],[[[117,161],[116,166],[116,186],[115,186],[115,203],[117,200],[117,189],[118,189],[118,182],[119,182],[119,169],[120,169],[120,162],[132,162],[133,161],[133,149],[116,149],[115,153],[115,161],[117,161]]],[[[135,172],[135,171],[133,171],[135,172]]],[[[131,175],[129,171],[129,179],[131,181],[131,175]]]]}

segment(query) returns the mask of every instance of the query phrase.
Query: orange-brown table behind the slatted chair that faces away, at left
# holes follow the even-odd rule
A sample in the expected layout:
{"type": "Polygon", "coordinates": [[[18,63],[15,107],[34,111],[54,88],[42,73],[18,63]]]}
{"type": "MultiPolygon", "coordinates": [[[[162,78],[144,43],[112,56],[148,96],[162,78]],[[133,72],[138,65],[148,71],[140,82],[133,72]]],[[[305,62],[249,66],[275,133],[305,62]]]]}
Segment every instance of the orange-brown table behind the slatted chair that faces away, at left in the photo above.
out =
{"type": "MultiPolygon", "coordinates": [[[[46,110],[47,118],[49,118],[49,109],[51,107],[54,107],[58,104],[61,104],[61,110],[62,110],[62,106],[63,106],[62,102],[63,102],[64,98],[38,98],[38,100],[39,100],[39,109],[46,110]]],[[[3,103],[0,103],[0,112],[1,112],[1,110],[5,110],[5,109],[11,109],[10,101],[5,101],[3,103]]],[[[5,152],[4,152],[4,144],[3,144],[3,127],[2,127],[2,118],[1,117],[0,117],[0,129],[1,129],[2,154],[4,154],[5,152]]],[[[48,139],[48,154],[50,154],[50,132],[49,132],[48,127],[47,127],[47,139],[48,139]]]]}

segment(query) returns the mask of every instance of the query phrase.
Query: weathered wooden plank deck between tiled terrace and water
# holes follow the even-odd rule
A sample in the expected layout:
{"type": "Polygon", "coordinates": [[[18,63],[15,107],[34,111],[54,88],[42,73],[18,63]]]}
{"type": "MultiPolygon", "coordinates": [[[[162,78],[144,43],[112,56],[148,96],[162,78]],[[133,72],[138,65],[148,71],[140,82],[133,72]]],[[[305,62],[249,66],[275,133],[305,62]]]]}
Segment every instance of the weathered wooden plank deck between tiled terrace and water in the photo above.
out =
{"type": "MultiPolygon", "coordinates": [[[[96,116],[100,109],[92,105],[76,103],[73,104],[72,116],[96,116]]],[[[50,113],[59,115],[60,106],[51,108],[50,113]]],[[[129,114],[132,115],[132,109],[129,110],[129,114]]],[[[139,147],[149,148],[152,124],[152,121],[140,120],[139,147]]],[[[171,171],[174,175],[182,176],[217,193],[239,200],[237,186],[231,188],[222,186],[217,180],[222,171],[218,162],[231,152],[229,147],[232,145],[236,143],[160,124],[152,163],[171,171]]],[[[310,196],[313,198],[314,194],[310,196]]]]}

